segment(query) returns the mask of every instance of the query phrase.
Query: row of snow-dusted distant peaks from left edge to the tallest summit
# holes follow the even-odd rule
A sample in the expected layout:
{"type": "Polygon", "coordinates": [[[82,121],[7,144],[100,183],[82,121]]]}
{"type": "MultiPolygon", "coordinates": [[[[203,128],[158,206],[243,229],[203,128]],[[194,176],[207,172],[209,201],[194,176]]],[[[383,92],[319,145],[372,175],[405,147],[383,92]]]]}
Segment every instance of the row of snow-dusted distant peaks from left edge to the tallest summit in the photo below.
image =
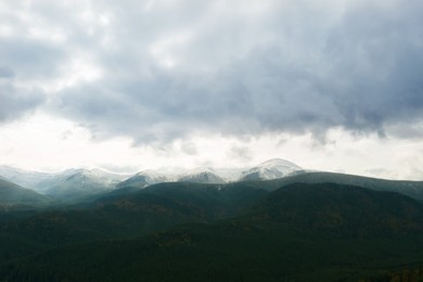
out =
{"type": "Polygon", "coordinates": [[[69,169],[59,174],[26,171],[0,167],[0,177],[57,201],[78,202],[115,191],[126,193],[163,182],[194,182],[223,184],[231,181],[268,180],[303,169],[284,159],[270,159],[248,169],[180,169],[179,172],[142,170],[133,176],[101,169],[69,169]]]}

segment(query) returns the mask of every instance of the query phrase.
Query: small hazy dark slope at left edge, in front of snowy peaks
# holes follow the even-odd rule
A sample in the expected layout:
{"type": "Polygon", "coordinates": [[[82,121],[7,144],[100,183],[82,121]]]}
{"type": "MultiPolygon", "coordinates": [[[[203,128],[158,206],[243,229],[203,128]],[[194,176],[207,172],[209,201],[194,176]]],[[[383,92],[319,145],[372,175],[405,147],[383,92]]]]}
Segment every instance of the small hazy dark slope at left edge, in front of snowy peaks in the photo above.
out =
{"type": "Polygon", "coordinates": [[[17,208],[23,206],[40,206],[51,202],[48,196],[22,188],[10,181],[0,179],[0,208],[17,208]]]}

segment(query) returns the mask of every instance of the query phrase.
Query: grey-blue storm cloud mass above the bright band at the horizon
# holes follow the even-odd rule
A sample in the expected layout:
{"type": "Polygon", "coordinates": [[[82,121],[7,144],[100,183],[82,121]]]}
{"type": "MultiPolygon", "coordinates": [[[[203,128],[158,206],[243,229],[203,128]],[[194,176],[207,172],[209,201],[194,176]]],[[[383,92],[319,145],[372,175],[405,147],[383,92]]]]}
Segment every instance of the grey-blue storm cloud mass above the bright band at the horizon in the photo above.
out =
{"type": "Polygon", "coordinates": [[[418,0],[2,1],[0,18],[10,66],[0,79],[38,91],[31,100],[4,85],[3,119],[42,97],[99,137],[149,143],[331,128],[383,136],[423,118],[418,0]]]}

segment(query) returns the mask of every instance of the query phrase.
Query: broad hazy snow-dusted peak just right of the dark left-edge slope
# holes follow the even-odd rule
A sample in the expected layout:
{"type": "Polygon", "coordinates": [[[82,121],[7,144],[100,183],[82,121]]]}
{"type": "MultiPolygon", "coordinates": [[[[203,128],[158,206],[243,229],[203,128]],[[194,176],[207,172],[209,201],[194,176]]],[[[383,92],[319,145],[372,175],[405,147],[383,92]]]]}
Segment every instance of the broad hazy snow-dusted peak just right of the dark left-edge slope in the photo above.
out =
{"type": "Polygon", "coordinates": [[[112,191],[126,176],[101,169],[70,169],[39,183],[46,194],[65,202],[89,198],[112,191]]]}

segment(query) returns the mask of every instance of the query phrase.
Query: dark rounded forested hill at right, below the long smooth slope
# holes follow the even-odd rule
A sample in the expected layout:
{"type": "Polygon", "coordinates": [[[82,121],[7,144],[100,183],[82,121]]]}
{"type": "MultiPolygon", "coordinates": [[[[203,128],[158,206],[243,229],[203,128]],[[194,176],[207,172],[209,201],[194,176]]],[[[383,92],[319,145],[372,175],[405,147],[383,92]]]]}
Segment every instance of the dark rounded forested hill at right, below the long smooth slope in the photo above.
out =
{"type": "Polygon", "coordinates": [[[423,205],[395,192],[294,183],[266,196],[255,217],[339,236],[423,233],[423,205]]]}

